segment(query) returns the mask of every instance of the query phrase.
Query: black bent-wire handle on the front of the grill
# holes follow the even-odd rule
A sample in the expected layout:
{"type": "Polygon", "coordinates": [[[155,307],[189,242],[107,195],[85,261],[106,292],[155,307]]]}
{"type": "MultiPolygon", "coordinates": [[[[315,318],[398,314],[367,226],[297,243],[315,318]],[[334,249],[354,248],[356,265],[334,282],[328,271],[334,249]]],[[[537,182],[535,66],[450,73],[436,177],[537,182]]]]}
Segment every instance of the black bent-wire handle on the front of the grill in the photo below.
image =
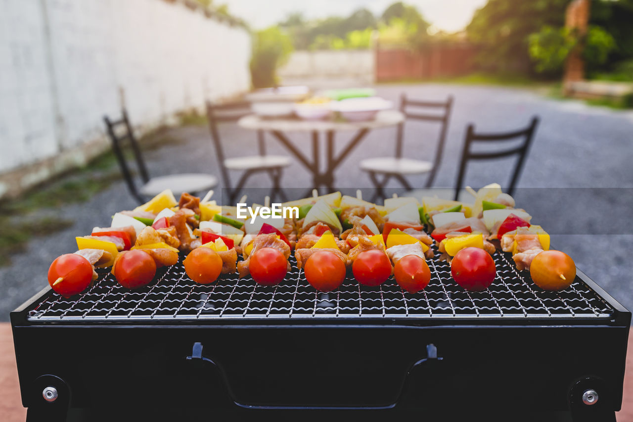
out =
{"type": "MultiPolygon", "coordinates": [[[[208,357],[203,356],[202,343],[195,342],[191,350],[191,356],[187,356],[187,361],[208,362],[211,365],[213,365],[213,367],[216,370],[218,370],[218,373],[220,373],[221,378],[223,378],[225,390],[227,391],[230,397],[230,400],[232,400],[232,402],[235,405],[239,407],[244,407],[245,409],[278,409],[278,410],[284,410],[284,409],[287,409],[287,410],[292,410],[292,409],[302,409],[302,410],[306,410],[306,409],[308,410],[309,409],[314,409],[314,410],[318,410],[318,409],[327,409],[327,410],[392,409],[396,407],[398,403],[410,401],[412,399],[411,397],[408,397],[408,395],[406,394],[406,392],[409,390],[408,386],[411,383],[411,378],[415,378],[411,376],[412,373],[416,373],[422,370],[423,367],[429,365],[432,362],[439,362],[439,361],[442,361],[443,359],[444,359],[443,357],[437,356],[436,345],[434,345],[433,343],[428,344],[427,357],[420,359],[419,361],[411,365],[411,368],[409,369],[407,373],[406,380],[404,381],[404,386],[399,394],[398,400],[386,406],[259,406],[259,405],[254,406],[251,404],[244,404],[235,400],[235,395],[230,390],[229,383],[227,382],[226,374],[224,373],[224,371],[222,371],[222,368],[218,364],[216,364],[214,361],[209,359],[208,357]],[[428,363],[424,365],[425,362],[428,362],[428,363]]],[[[417,398],[413,398],[413,400],[417,400],[417,398]]]]}

